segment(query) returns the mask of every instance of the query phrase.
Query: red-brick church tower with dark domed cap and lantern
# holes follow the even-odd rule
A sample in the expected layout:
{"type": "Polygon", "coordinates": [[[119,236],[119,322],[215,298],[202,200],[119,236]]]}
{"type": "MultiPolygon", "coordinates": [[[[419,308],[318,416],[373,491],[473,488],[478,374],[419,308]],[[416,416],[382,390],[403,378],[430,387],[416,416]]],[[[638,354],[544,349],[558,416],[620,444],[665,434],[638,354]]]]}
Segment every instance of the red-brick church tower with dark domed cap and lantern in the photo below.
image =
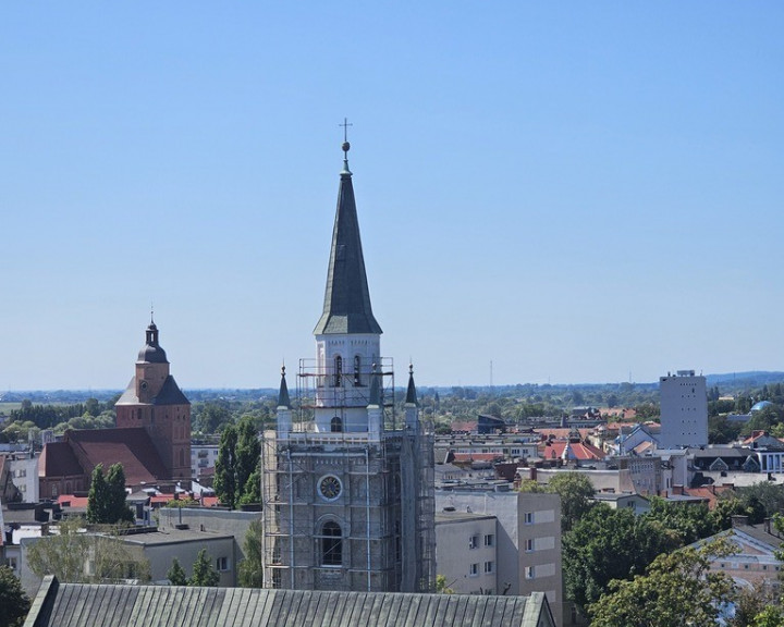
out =
{"type": "Polygon", "coordinates": [[[191,480],[191,402],[169,373],[158,327],[147,327],[136,372],[114,404],[119,429],[144,427],[169,472],[167,479],[191,480]]]}

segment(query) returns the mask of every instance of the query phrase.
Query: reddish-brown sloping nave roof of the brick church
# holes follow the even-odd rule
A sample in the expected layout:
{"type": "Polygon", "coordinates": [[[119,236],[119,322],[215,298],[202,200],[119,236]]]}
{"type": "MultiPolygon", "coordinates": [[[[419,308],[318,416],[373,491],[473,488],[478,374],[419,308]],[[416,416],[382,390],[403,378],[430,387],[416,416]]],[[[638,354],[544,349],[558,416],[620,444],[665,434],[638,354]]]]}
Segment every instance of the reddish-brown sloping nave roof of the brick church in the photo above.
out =
{"type": "Polygon", "coordinates": [[[84,429],[68,431],[65,437],[70,444],[84,453],[91,468],[103,464],[103,469],[108,470],[112,464],[122,464],[128,485],[171,479],[149,433],[142,427],[84,429]]]}

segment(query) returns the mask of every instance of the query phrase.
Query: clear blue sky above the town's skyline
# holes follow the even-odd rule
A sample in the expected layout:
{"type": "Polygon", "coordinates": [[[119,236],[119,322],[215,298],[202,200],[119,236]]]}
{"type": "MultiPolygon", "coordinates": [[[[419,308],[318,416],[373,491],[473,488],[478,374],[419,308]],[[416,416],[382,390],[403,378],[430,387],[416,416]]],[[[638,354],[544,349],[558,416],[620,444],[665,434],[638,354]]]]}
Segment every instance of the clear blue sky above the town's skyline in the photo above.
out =
{"type": "Polygon", "coordinates": [[[784,370],[784,4],[5,2],[0,390],[315,356],[350,119],[400,384],[784,370]]]}

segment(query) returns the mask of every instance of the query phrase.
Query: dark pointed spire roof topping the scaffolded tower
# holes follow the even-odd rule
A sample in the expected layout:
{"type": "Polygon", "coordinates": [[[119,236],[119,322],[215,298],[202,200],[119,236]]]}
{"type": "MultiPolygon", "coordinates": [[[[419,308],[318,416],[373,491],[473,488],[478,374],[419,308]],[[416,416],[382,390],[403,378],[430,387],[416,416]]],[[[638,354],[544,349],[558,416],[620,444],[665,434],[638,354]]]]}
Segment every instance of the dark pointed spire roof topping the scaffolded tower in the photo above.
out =
{"type": "MultiPolygon", "coordinates": [[[[347,142],[343,149],[347,155],[347,142]]],[[[314,330],[316,335],[328,333],[381,333],[381,327],[373,318],[370,307],[370,292],[347,158],[343,161],[338,190],[323,314],[314,330]]]]}

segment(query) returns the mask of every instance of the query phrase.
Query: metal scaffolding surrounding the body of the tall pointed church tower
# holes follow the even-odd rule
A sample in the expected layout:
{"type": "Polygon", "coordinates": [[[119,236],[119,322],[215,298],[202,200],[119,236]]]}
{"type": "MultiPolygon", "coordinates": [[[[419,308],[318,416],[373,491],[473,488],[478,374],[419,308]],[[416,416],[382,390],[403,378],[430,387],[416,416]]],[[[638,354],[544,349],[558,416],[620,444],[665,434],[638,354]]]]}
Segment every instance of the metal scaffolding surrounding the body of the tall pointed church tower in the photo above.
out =
{"type": "Polygon", "coordinates": [[[394,399],[391,359],[359,373],[301,361],[292,430],[262,440],[266,588],[434,589],[432,429],[399,425],[394,399]],[[382,383],[379,433],[317,430],[319,410],[344,423],[368,411],[373,376],[382,383]],[[321,491],[326,478],[336,496],[321,491]]]}

